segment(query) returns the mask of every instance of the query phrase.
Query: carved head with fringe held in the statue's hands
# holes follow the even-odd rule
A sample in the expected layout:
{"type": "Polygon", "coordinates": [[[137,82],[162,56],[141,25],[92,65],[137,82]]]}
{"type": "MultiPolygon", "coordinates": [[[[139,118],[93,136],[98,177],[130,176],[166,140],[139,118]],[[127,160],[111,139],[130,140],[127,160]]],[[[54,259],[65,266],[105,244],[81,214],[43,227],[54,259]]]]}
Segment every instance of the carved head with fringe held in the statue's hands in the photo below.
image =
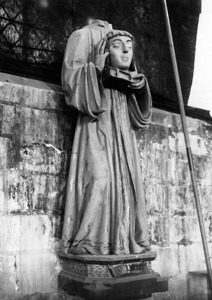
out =
{"type": "Polygon", "coordinates": [[[110,54],[106,59],[105,69],[119,68],[125,71],[135,71],[133,36],[123,30],[111,30],[105,36],[106,51],[110,54]]]}

